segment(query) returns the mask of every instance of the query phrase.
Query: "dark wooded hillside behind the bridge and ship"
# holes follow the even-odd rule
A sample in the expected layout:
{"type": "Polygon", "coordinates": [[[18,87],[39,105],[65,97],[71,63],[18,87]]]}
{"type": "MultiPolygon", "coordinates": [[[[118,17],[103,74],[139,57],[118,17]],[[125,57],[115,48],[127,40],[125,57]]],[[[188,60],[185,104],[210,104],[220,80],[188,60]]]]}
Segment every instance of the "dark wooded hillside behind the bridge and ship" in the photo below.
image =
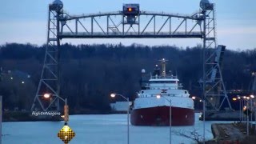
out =
{"type": "MultiPolygon", "coordinates": [[[[36,94],[46,46],[9,43],[0,46],[0,95],[3,109],[30,110],[36,94]]],[[[61,96],[68,98],[72,114],[108,114],[110,93],[134,99],[140,90],[141,70],[154,70],[160,58],[177,74],[190,94],[200,94],[202,46],[131,46],[63,44],[60,49],[61,96]]],[[[256,49],[226,50],[222,70],[227,90],[248,88],[256,68],[256,49]]]]}

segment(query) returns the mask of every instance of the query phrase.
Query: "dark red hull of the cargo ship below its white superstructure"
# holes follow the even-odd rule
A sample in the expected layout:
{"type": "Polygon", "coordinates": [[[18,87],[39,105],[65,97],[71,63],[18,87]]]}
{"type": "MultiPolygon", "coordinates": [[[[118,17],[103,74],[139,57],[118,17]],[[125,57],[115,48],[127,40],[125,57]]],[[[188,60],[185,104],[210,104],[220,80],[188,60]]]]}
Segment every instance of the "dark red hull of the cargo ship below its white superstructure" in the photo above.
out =
{"type": "MultiPolygon", "coordinates": [[[[194,125],[194,110],[171,107],[172,126],[194,125]]],[[[170,126],[170,107],[158,106],[131,111],[130,122],[134,126],[170,126]]]]}

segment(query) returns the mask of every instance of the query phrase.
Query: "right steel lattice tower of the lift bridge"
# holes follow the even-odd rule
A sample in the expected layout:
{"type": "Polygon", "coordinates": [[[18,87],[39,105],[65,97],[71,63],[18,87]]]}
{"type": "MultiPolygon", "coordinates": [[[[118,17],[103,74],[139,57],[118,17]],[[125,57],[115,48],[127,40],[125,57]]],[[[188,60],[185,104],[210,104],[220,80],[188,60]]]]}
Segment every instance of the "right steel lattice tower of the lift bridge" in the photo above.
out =
{"type": "Polygon", "coordinates": [[[208,0],[200,2],[203,17],[203,78],[202,90],[206,110],[221,110],[226,101],[232,110],[222,79],[222,58],[226,46],[217,46],[215,5],[208,0]]]}

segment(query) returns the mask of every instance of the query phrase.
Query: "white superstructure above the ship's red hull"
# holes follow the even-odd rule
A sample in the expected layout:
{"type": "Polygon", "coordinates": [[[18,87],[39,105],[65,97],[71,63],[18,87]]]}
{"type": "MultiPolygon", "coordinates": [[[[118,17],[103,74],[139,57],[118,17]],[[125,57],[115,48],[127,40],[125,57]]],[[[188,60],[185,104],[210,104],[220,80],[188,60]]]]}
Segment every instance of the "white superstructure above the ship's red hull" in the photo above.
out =
{"type": "Polygon", "coordinates": [[[145,90],[138,92],[138,98],[134,101],[134,109],[170,106],[168,100],[171,100],[174,107],[194,109],[194,102],[189,98],[189,92],[182,90],[182,85],[178,83],[177,76],[166,75],[166,60],[163,58],[161,62],[162,74],[150,76],[145,90]],[[156,98],[158,94],[165,98],[156,98]]]}

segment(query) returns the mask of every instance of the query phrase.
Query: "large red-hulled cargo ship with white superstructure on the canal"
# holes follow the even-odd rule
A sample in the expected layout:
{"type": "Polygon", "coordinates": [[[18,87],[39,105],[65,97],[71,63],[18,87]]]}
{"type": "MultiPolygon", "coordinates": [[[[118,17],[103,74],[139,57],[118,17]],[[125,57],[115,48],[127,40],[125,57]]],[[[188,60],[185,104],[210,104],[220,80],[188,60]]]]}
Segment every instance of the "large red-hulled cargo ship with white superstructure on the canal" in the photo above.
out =
{"type": "MultiPolygon", "coordinates": [[[[171,122],[171,126],[194,125],[193,99],[188,90],[182,89],[177,75],[166,74],[166,59],[162,58],[160,62],[162,70],[156,65],[150,78],[142,80],[142,90],[138,92],[130,113],[131,124],[170,126],[171,122]]],[[[142,70],[142,75],[145,73],[142,70]]]]}

